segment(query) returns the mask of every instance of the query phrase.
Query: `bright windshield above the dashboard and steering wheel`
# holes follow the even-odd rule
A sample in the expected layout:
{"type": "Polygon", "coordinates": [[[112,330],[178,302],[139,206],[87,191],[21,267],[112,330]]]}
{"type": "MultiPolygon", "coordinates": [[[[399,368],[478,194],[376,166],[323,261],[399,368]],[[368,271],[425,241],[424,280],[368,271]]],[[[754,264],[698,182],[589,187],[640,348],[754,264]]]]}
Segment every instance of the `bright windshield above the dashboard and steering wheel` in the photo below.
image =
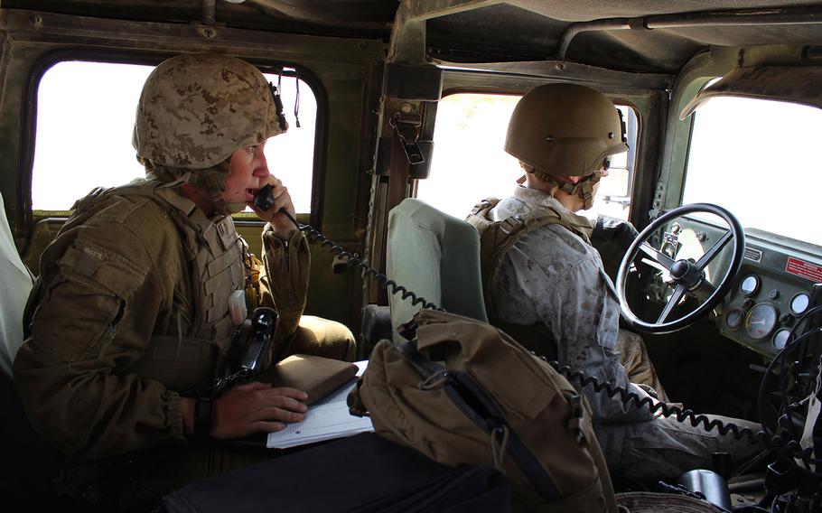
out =
{"type": "Polygon", "coordinates": [[[822,246],[822,110],[723,97],[695,116],[682,203],[716,203],[746,229],[822,246]]]}

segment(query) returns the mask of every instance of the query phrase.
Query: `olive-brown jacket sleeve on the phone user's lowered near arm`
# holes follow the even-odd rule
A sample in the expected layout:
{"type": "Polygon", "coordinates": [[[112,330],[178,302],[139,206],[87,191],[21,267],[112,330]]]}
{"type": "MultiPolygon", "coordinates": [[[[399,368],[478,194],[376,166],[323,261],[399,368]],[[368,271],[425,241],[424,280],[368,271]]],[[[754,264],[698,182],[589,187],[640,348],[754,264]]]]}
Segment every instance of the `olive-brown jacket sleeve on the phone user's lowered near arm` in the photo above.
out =
{"type": "MultiPolygon", "coordinates": [[[[78,459],[183,439],[179,396],[129,374],[171,300],[168,277],[123,225],[84,227],[42,269],[14,381],[35,429],[78,459]]],[[[173,282],[172,282],[173,283],[173,282]]]]}

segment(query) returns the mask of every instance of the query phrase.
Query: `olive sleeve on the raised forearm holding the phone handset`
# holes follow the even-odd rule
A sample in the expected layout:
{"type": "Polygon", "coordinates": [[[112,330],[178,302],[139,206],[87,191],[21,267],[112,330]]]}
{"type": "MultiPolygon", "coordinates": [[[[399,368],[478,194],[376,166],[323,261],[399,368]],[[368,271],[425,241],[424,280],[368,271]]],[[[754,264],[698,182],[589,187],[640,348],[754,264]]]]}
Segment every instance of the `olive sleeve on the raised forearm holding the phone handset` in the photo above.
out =
{"type": "Polygon", "coordinates": [[[276,308],[280,324],[276,340],[294,333],[305,308],[311,255],[303,233],[294,231],[288,240],[276,235],[271,225],[263,230],[263,269],[260,272],[260,304],[276,308]]]}

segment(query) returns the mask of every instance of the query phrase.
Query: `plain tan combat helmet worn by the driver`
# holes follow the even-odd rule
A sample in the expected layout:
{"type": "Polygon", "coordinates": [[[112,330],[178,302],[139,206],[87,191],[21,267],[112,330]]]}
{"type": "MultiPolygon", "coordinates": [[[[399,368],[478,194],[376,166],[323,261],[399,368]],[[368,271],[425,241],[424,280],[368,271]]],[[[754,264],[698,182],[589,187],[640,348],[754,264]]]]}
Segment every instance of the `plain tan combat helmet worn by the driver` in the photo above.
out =
{"type": "Polygon", "coordinates": [[[514,108],[505,151],[543,182],[579,195],[590,209],[602,164],[628,151],[628,145],[620,111],[602,93],[577,84],[546,84],[528,91],[514,108]],[[574,184],[555,176],[588,178],[574,184]]]}

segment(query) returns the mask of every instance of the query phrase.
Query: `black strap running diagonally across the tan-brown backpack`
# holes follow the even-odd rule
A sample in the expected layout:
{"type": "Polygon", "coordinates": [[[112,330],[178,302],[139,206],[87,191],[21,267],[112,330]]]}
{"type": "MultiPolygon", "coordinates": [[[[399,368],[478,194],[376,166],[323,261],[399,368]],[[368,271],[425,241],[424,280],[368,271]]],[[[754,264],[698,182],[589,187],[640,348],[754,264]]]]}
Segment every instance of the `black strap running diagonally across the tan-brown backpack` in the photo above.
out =
{"type": "Polygon", "coordinates": [[[519,439],[519,436],[505,420],[499,406],[470,374],[445,368],[442,364],[429,359],[416,349],[416,342],[413,340],[402,344],[398,350],[408,365],[416,369],[423,378],[424,383],[442,382],[445,395],[452,400],[453,405],[467,416],[473,424],[476,424],[482,431],[490,435],[495,460],[497,459],[495,444],[500,443],[500,461],[494,462],[498,468],[501,467],[504,453],[508,452],[511,460],[518,466],[519,471],[526,476],[531,487],[546,502],[553,502],[562,498],[554,481],[551,480],[537,457],[528,450],[525,443],[522,443],[522,440],[519,439]]]}

